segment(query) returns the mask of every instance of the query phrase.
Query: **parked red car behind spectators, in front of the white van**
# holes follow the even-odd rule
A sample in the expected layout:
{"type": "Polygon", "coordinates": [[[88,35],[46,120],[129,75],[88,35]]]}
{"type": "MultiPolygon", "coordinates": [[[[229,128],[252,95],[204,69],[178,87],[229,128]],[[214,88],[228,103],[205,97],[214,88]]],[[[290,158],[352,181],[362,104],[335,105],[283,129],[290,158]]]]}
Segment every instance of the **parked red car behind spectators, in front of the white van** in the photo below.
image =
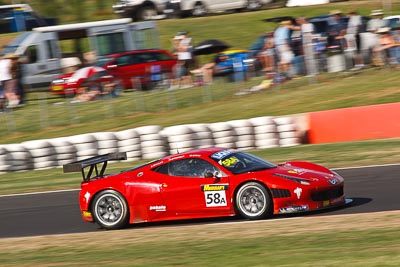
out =
{"type": "MultiPolygon", "coordinates": [[[[154,85],[170,78],[177,60],[167,50],[133,50],[103,56],[96,66],[107,71],[124,89],[152,89],[154,85]]],[[[77,70],[78,72],[79,70],[77,70]]],[[[63,74],[51,82],[50,91],[54,94],[74,94],[76,89],[91,75],[71,78],[74,73],[63,74]]],[[[109,79],[109,77],[107,78],[109,79]]]]}

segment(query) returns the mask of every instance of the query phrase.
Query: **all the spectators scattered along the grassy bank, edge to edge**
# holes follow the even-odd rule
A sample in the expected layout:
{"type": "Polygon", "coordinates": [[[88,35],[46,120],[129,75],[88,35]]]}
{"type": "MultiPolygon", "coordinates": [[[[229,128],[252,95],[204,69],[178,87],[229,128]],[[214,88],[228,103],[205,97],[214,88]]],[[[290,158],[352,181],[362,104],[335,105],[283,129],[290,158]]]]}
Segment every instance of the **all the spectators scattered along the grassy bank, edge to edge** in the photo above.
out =
{"type": "MultiPolygon", "coordinates": [[[[383,15],[382,10],[372,10],[367,20],[357,10],[346,15],[333,10],[326,18],[325,31],[318,34],[315,24],[304,16],[280,21],[273,32],[263,35],[262,47],[251,58],[256,66],[253,69],[266,77],[255,90],[297,76],[312,77],[329,71],[332,55],[341,55],[347,62],[346,69],[353,71],[368,65],[400,67],[400,24],[388,27],[383,15]]],[[[234,67],[228,66],[233,64],[231,58],[221,53],[212,62],[196,66],[193,49],[188,32],[178,32],[172,38],[171,52],[177,64],[170,79],[170,89],[212,84],[213,78],[224,74],[226,68],[235,71],[234,67]]],[[[14,54],[0,57],[0,110],[24,105],[21,63],[14,54]]],[[[109,86],[115,87],[114,83],[109,86]]],[[[115,91],[109,88],[106,93],[115,91]]],[[[89,89],[87,86],[79,88],[76,100],[90,101],[103,95],[103,92],[99,93],[101,90],[89,89]]]]}

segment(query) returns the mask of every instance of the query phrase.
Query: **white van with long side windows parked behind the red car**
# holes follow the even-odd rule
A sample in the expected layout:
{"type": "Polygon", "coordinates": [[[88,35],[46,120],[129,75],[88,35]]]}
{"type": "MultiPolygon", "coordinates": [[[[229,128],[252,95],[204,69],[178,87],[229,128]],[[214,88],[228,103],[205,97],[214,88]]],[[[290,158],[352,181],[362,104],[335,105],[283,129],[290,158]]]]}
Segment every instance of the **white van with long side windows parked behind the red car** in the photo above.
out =
{"type": "MultiPolygon", "coordinates": [[[[131,23],[129,18],[34,28],[17,36],[2,53],[22,62],[25,87],[48,87],[69,63],[84,62],[85,54],[108,54],[159,48],[155,23],[131,23]]],[[[75,63],[74,63],[75,64],[75,63]]]]}

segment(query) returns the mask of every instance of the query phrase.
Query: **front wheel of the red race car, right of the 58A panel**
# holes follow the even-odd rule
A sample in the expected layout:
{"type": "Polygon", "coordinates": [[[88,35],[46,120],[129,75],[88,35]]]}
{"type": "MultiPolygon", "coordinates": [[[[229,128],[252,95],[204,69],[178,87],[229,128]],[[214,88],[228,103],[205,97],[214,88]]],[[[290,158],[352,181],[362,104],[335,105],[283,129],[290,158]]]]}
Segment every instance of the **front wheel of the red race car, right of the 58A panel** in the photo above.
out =
{"type": "Polygon", "coordinates": [[[272,214],[271,196],[259,183],[242,185],[236,193],[235,203],[237,212],[246,219],[257,220],[272,214]]]}

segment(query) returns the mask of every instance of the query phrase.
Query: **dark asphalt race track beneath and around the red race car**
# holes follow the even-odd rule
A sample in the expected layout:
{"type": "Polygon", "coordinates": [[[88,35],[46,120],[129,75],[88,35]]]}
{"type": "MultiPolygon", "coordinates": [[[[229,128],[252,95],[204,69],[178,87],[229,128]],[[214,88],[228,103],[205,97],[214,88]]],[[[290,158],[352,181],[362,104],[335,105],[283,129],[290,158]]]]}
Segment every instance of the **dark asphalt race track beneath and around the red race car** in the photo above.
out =
{"type": "MultiPolygon", "coordinates": [[[[400,165],[336,170],[345,178],[350,205],[318,212],[317,216],[399,210],[400,165]]],[[[315,216],[315,214],[312,214],[315,216]]],[[[0,238],[102,231],[81,219],[78,191],[0,196],[0,238]]],[[[306,215],[307,216],[307,215],[306,215]]],[[[238,218],[165,222],[165,224],[215,223],[238,218]]]]}

